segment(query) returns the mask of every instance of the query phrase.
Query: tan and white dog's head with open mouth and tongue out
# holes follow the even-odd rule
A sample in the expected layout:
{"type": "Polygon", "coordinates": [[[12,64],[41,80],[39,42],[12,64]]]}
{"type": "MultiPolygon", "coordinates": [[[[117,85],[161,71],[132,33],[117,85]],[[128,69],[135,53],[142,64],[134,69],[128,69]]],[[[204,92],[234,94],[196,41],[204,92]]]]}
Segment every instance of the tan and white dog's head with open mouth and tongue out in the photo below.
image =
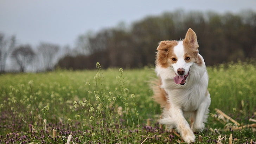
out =
{"type": "Polygon", "coordinates": [[[162,68],[173,68],[174,82],[184,85],[194,63],[200,64],[198,59],[198,42],[196,33],[189,28],[184,40],[161,41],[157,48],[156,65],[162,68]]]}

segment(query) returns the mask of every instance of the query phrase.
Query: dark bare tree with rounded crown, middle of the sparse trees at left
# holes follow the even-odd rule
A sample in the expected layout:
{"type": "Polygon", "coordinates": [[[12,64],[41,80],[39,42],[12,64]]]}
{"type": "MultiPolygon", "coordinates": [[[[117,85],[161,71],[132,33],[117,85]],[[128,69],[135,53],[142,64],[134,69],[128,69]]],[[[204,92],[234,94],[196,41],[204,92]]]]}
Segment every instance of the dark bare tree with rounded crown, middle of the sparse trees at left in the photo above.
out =
{"type": "Polygon", "coordinates": [[[35,53],[30,45],[18,46],[13,52],[12,57],[16,60],[20,66],[20,72],[25,72],[27,66],[32,62],[35,57],[35,53]]]}

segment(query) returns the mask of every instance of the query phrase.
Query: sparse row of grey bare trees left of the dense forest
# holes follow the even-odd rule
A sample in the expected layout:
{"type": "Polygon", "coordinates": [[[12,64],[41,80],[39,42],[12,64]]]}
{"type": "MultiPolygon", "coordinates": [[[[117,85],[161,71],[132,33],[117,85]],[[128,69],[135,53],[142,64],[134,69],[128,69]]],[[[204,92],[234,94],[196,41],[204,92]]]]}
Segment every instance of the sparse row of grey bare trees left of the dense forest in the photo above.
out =
{"type": "Polygon", "coordinates": [[[0,73],[26,72],[28,67],[32,67],[32,72],[52,71],[68,50],[69,48],[61,49],[59,45],[48,42],[41,42],[36,48],[29,44],[17,45],[14,35],[7,37],[0,33],[0,73]],[[8,62],[10,70],[6,69],[8,62]]]}

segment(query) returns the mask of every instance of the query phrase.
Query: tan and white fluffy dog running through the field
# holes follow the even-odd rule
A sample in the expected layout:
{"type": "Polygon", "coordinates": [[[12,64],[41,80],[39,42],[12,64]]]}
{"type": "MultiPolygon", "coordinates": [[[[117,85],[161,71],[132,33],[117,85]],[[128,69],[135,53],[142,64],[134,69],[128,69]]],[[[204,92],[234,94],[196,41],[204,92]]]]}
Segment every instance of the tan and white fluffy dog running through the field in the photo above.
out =
{"type": "Polygon", "coordinates": [[[198,47],[197,35],[189,28],[185,39],[160,41],[156,49],[158,82],[153,98],[162,108],[159,123],[176,127],[186,143],[195,142],[193,132],[204,130],[211,103],[209,77],[198,47]]]}

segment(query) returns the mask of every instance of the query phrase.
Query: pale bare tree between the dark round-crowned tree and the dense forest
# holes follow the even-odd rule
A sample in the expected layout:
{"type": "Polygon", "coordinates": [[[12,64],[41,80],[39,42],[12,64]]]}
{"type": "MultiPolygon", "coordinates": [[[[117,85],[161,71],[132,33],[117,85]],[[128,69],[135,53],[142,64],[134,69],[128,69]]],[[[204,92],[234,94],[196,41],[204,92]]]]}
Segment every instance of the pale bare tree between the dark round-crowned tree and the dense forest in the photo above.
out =
{"type": "Polygon", "coordinates": [[[55,64],[57,63],[57,53],[59,51],[59,46],[55,44],[42,42],[38,46],[38,54],[42,62],[43,70],[52,71],[55,64]]]}

